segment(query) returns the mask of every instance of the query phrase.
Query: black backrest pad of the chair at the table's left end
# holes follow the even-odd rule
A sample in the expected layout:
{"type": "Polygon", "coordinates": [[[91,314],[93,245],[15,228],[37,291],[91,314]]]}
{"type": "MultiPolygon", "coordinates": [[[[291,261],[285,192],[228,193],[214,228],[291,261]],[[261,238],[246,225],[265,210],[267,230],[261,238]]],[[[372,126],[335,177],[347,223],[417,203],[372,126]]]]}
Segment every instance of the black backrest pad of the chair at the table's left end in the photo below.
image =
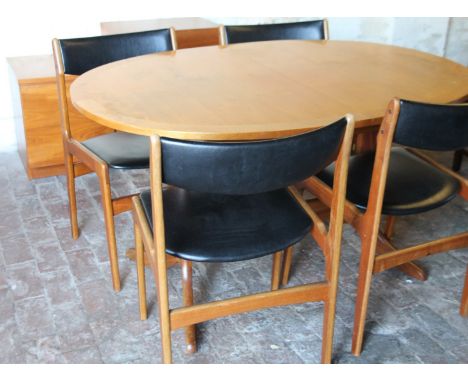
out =
{"type": "Polygon", "coordinates": [[[170,29],[59,40],[65,74],[125,58],[173,50],[170,29]]]}

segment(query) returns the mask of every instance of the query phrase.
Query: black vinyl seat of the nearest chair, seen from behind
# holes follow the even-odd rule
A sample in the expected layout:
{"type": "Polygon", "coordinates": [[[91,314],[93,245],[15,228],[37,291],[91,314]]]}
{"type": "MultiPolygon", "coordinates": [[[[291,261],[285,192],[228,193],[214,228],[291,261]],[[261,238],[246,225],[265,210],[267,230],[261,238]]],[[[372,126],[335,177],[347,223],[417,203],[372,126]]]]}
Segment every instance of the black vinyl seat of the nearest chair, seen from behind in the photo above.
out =
{"type": "MultiPolygon", "coordinates": [[[[163,195],[166,252],[184,260],[254,259],[297,243],[312,226],[286,189],[237,196],[169,187],[163,195]]],[[[152,229],[150,191],[140,200],[152,229]]]]}

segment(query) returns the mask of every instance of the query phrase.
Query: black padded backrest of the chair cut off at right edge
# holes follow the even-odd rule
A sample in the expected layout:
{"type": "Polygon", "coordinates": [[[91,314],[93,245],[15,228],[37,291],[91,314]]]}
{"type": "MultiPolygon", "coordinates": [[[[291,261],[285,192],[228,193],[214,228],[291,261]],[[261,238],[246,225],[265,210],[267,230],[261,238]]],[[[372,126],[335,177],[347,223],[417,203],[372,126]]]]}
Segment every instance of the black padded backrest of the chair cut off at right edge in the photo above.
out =
{"type": "Polygon", "coordinates": [[[401,100],[393,141],[434,151],[468,147],[468,104],[434,105],[401,100]]]}

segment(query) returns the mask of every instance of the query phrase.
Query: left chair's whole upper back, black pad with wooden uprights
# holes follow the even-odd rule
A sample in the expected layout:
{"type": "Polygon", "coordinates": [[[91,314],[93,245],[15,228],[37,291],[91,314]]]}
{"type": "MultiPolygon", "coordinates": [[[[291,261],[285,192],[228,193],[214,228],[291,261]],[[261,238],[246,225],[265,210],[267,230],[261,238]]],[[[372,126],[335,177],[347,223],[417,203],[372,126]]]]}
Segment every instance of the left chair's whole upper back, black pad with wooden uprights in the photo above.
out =
{"type": "Polygon", "coordinates": [[[172,28],[72,39],[54,39],[55,71],[62,118],[62,131],[71,138],[65,75],[79,76],[88,70],[126,58],[177,48],[172,28]]]}

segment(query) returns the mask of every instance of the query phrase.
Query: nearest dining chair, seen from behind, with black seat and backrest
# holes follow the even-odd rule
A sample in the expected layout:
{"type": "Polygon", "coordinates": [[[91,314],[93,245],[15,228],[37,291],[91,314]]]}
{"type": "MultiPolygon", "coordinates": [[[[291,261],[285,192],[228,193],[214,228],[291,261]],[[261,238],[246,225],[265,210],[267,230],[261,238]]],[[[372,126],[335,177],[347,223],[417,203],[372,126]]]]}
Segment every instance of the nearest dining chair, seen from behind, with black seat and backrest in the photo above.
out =
{"type": "Polygon", "coordinates": [[[322,361],[331,362],[348,157],[354,121],[346,116],[301,135],[248,142],[194,142],[151,137],[151,190],[133,197],[138,289],[146,318],[144,256],[159,307],[163,361],[172,362],[171,332],[253,310],[324,302],[322,361]],[[337,159],[328,229],[293,186],[337,159]],[[167,188],[162,187],[165,183],[167,188]],[[325,281],[193,304],[192,263],[246,261],[273,254],[280,277],[283,251],[309,233],[325,256],[325,281]],[[167,258],[182,264],[183,307],[168,302],[167,258]]]}

